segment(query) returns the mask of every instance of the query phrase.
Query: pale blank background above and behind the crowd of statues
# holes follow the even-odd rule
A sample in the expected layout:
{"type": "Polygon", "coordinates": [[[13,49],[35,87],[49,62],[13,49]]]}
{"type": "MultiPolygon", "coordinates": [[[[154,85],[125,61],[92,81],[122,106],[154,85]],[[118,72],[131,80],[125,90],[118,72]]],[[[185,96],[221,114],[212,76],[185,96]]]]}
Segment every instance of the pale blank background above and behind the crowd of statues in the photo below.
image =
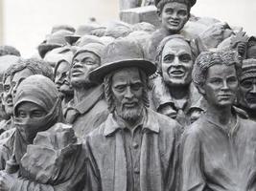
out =
{"type": "MultiPolygon", "coordinates": [[[[119,0],[0,0],[0,44],[16,47],[29,57],[54,25],[75,28],[95,17],[98,22],[119,19],[119,0]]],[[[196,16],[220,19],[256,35],[255,0],[198,0],[196,16]]]]}

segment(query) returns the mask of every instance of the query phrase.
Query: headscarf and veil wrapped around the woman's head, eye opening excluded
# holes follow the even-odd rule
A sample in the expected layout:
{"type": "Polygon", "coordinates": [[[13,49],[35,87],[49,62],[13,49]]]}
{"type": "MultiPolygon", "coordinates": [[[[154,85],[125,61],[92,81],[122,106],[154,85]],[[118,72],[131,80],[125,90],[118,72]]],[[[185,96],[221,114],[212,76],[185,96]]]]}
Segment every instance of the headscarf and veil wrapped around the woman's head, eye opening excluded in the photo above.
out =
{"type": "Polygon", "coordinates": [[[35,74],[24,79],[17,88],[14,98],[14,124],[16,127],[15,150],[19,161],[26,152],[27,145],[33,142],[36,134],[45,131],[61,119],[60,98],[53,81],[35,74]],[[33,102],[45,110],[47,115],[39,120],[17,117],[17,108],[23,102],[33,102]]]}

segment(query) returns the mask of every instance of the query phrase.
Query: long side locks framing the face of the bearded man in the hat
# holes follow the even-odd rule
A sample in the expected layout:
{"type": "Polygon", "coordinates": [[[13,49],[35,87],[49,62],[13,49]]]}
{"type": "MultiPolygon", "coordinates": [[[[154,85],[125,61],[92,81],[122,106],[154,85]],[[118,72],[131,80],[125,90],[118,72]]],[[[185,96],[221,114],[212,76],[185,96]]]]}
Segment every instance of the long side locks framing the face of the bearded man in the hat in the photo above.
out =
{"type": "MultiPolygon", "coordinates": [[[[104,88],[105,88],[105,100],[108,106],[108,110],[110,113],[113,113],[115,111],[115,104],[114,104],[114,97],[111,90],[112,86],[112,77],[113,73],[105,75],[104,78],[104,88]]],[[[143,84],[143,104],[145,107],[150,107],[150,99],[148,96],[148,90],[149,90],[149,78],[147,74],[145,74],[143,71],[139,69],[140,78],[143,84]]]]}

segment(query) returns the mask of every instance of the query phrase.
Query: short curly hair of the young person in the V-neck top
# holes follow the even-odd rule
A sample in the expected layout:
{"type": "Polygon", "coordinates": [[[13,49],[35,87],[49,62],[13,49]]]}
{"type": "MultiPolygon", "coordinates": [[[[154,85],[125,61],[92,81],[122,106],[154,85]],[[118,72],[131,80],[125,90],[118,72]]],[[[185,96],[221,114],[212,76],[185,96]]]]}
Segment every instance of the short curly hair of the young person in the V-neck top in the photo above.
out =
{"type": "Polygon", "coordinates": [[[214,65],[234,65],[237,76],[242,72],[242,59],[235,51],[203,52],[198,55],[193,71],[192,79],[196,86],[201,87],[205,83],[207,71],[214,65]]]}

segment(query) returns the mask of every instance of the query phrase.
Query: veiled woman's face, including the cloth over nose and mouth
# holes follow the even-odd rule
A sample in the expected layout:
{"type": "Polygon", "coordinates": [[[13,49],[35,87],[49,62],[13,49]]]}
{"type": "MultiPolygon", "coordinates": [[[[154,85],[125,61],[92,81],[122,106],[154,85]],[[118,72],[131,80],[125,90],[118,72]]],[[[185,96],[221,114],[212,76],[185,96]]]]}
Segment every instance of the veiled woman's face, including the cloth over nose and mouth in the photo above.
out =
{"type": "Polygon", "coordinates": [[[32,142],[41,127],[45,125],[43,119],[46,115],[46,111],[35,103],[22,102],[16,110],[16,117],[19,118],[20,122],[17,128],[22,137],[32,142]]]}

